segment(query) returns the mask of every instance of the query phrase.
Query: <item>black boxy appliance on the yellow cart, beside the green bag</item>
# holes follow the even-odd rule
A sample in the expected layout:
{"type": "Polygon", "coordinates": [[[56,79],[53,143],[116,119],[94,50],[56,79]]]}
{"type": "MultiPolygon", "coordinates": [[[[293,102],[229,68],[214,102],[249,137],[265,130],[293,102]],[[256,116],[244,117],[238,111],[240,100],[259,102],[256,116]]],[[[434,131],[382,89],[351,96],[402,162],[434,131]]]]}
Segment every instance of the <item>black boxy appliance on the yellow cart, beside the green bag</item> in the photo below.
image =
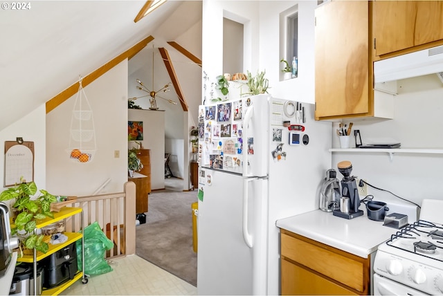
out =
{"type": "Polygon", "coordinates": [[[44,259],[45,288],[53,288],[73,279],[77,273],[77,250],[75,243],[62,248],[44,259]]]}

